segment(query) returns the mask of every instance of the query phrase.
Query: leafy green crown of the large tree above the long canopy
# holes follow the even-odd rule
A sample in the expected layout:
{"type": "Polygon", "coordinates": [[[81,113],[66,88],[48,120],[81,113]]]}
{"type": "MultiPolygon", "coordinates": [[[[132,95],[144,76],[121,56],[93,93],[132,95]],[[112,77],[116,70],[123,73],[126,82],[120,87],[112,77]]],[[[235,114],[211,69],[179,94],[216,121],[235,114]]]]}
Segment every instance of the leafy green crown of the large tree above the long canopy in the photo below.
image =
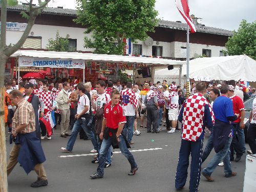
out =
{"type": "Polygon", "coordinates": [[[85,33],[93,33],[92,39],[85,39],[84,47],[95,48],[97,53],[122,54],[123,38],[145,40],[147,32],[153,32],[157,26],[155,0],[77,2],[80,4],[75,22],[86,26],[85,33]],[[115,42],[118,46],[114,46],[115,42]]]}

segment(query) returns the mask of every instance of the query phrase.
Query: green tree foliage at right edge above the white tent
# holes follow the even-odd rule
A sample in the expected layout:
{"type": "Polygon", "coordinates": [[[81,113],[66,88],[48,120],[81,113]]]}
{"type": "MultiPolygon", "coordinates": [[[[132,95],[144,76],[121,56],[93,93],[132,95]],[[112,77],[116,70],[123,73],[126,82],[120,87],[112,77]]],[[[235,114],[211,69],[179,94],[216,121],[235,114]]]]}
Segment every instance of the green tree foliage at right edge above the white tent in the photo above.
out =
{"type": "Polygon", "coordinates": [[[233,36],[228,38],[225,51],[228,55],[245,54],[256,59],[256,22],[247,23],[242,20],[238,31],[233,31],[233,36]]]}

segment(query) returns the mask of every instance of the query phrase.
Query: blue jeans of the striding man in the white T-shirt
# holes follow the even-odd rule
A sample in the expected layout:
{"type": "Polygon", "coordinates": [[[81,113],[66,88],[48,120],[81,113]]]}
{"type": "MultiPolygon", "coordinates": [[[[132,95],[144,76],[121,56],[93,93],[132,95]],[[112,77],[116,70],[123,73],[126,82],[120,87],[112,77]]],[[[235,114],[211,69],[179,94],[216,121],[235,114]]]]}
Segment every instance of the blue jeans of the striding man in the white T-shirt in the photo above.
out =
{"type": "Polygon", "coordinates": [[[75,144],[77,135],[80,131],[80,129],[82,128],[84,132],[86,132],[86,135],[88,136],[89,139],[91,139],[92,144],[94,146],[95,150],[98,150],[98,145],[97,142],[95,140],[94,137],[94,133],[93,131],[90,129],[90,127],[87,126],[88,122],[90,121],[90,118],[79,118],[76,120],[76,122],[74,123],[74,127],[72,129],[71,132],[71,136],[69,138],[68,144],[67,144],[67,150],[72,151],[73,150],[73,146],[75,144]]]}

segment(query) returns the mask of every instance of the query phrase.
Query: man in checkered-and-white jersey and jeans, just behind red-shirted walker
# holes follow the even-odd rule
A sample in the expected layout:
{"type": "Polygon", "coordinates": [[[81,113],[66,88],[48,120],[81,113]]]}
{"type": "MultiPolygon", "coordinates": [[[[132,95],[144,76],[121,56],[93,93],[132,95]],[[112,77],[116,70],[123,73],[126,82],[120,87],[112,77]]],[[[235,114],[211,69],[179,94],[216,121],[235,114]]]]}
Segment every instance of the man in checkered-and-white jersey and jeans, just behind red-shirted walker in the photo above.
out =
{"type": "Polygon", "coordinates": [[[132,82],[127,82],[126,83],[127,88],[120,92],[122,106],[123,106],[124,114],[126,117],[126,123],[124,125],[123,131],[124,131],[125,137],[127,133],[127,141],[130,144],[134,144],[134,142],[132,142],[132,138],[133,138],[133,126],[135,121],[135,112],[136,112],[136,116],[137,117],[139,116],[138,100],[136,99],[136,95],[134,91],[131,90],[132,86],[133,86],[132,82]]]}

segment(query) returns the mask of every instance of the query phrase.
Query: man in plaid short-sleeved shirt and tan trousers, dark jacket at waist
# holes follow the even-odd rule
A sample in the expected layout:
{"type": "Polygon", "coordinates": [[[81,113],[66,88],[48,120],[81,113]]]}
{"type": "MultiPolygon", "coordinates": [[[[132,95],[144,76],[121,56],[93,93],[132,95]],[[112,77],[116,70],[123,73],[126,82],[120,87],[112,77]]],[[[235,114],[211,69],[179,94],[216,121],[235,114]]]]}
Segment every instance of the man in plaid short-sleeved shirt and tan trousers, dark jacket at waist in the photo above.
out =
{"type": "Polygon", "coordinates": [[[35,133],[35,113],[31,103],[23,98],[23,93],[19,90],[10,92],[10,99],[17,109],[14,112],[12,123],[12,137],[15,144],[12,147],[10,158],[7,163],[7,175],[19,162],[25,172],[29,174],[35,170],[37,180],[31,187],[41,187],[48,185],[45,168],[42,165],[46,161],[40,139],[35,133]]]}

